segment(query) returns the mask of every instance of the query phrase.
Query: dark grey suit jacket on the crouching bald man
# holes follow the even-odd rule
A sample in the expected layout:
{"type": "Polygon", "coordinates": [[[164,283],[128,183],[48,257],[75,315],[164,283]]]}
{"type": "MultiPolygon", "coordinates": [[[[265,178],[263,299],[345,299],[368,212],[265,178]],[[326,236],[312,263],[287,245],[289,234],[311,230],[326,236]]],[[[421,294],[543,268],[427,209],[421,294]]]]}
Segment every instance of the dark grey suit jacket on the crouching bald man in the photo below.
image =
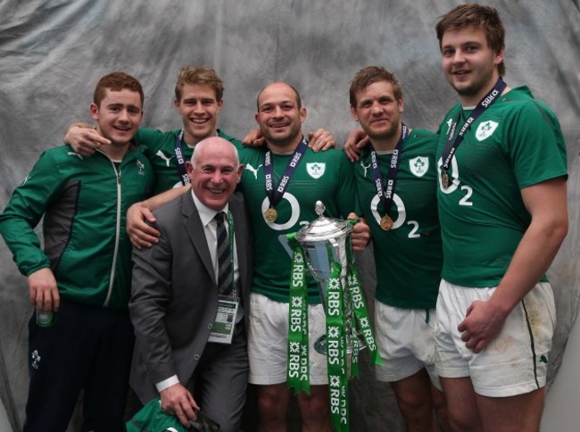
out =
{"type": "MultiPolygon", "coordinates": [[[[248,317],[252,279],[249,216],[241,194],[229,201],[234,218],[239,286],[248,317]]],[[[202,221],[191,193],[154,212],[158,244],[133,250],[129,312],[137,338],[130,384],[141,402],[157,396],[155,383],[192,377],[218,310],[218,287],[202,221]]]]}

